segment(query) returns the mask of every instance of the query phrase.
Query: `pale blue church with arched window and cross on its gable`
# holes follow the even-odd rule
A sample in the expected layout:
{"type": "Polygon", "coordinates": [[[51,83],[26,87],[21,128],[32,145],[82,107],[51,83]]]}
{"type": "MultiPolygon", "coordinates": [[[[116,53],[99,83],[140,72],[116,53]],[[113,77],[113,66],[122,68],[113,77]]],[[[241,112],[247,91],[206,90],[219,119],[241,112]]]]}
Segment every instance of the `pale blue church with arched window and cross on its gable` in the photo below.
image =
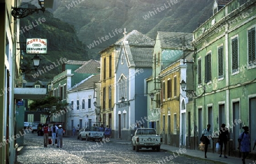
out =
{"type": "Polygon", "coordinates": [[[116,138],[130,140],[137,123],[147,127],[146,79],[152,74],[154,40],[134,30],[119,42],[112,133],[116,138]]]}

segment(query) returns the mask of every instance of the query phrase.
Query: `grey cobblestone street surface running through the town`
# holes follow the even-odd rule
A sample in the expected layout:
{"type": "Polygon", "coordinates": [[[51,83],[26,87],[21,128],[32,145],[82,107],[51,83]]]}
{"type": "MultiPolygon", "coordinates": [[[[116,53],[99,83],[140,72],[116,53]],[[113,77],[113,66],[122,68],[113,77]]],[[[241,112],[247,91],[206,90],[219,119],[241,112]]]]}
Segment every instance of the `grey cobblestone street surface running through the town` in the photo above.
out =
{"type": "MultiPolygon", "coordinates": [[[[28,133],[24,136],[24,146],[20,150],[17,163],[210,163],[204,159],[180,156],[160,150],[132,150],[127,141],[109,142],[80,141],[76,137],[64,137],[63,148],[55,145],[43,146],[43,136],[28,133]],[[121,144],[122,143],[122,144],[121,144]],[[173,159],[169,159],[170,156],[173,159]]],[[[214,163],[214,162],[212,162],[214,163]]]]}

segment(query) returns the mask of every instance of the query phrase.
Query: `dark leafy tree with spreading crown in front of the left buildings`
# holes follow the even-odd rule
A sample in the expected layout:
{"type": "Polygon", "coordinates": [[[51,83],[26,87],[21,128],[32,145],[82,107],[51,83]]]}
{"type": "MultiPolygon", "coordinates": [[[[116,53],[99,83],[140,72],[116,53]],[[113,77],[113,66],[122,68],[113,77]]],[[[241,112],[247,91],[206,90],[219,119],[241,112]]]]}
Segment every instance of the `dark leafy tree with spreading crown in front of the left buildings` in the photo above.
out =
{"type": "Polygon", "coordinates": [[[55,113],[59,113],[61,110],[65,110],[68,103],[61,102],[59,97],[48,96],[42,99],[33,100],[30,104],[30,111],[42,111],[47,115],[46,123],[49,118],[55,113]]]}

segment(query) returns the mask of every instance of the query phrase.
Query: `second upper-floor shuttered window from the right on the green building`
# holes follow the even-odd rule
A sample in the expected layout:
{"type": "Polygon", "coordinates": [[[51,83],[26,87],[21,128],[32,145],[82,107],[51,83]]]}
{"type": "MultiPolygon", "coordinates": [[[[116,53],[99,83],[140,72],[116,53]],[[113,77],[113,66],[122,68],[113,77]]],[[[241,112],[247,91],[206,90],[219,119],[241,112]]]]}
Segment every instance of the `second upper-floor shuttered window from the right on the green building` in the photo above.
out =
{"type": "Polygon", "coordinates": [[[231,41],[232,51],[232,72],[238,71],[238,37],[235,37],[231,41]]]}

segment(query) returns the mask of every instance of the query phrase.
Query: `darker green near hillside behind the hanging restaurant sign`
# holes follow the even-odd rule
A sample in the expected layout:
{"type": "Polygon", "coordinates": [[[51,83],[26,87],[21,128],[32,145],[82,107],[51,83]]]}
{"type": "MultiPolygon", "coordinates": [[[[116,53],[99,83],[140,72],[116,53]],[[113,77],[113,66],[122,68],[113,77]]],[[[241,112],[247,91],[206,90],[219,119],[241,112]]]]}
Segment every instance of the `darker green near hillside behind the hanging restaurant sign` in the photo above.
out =
{"type": "MultiPolygon", "coordinates": [[[[35,8],[35,6],[30,6],[35,8]]],[[[27,81],[50,81],[54,76],[60,74],[62,71],[62,65],[60,58],[66,58],[67,60],[81,60],[86,61],[90,58],[83,50],[84,46],[79,38],[76,36],[76,31],[71,24],[65,23],[57,18],[53,18],[53,15],[45,11],[39,12],[39,14],[32,14],[26,18],[20,19],[20,29],[24,29],[24,32],[20,33],[20,42],[26,42],[26,38],[47,38],[47,54],[39,55],[42,59],[38,68],[41,71],[39,76],[32,77],[36,71],[31,71],[25,75],[27,81]],[[45,19],[41,24],[38,19],[45,19]],[[38,21],[39,24],[36,24],[38,21]],[[34,23],[34,24],[33,24],[34,23]],[[25,26],[32,25],[32,29],[25,29],[25,26]],[[51,70],[44,71],[44,68],[49,67],[51,64],[57,65],[51,70]],[[60,64],[59,64],[59,63],[60,64]]],[[[24,51],[23,53],[23,66],[26,68],[33,68],[31,59],[34,57],[33,54],[26,54],[26,44],[20,44],[20,48],[24,51]]]]}

